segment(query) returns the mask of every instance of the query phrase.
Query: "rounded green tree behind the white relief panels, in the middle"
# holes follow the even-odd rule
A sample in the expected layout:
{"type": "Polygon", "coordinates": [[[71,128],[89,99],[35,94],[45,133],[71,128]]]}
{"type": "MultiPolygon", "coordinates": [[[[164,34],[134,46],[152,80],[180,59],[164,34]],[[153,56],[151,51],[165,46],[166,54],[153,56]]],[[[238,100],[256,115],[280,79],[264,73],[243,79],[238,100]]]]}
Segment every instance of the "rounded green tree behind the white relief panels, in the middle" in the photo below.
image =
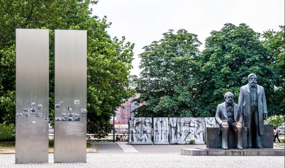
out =
{"type": "Polygon", "coordinates": [[[133,77],[140,97],[134,101],[145,104],[135,110],[135,116],[197,116],[192,77],[200,67],[196,60],[201,42],[184,29],[162,35],[140,54],[141,77],[133,77]]]}

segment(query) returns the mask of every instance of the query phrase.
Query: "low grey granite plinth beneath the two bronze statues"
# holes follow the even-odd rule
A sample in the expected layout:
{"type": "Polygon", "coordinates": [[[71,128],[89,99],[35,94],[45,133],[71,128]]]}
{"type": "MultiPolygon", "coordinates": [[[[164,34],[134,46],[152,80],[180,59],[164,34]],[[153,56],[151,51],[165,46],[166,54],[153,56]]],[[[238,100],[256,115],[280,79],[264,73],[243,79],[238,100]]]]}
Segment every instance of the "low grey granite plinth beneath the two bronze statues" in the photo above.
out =
{"type": "Polygon", "coordinates": [[[284,149],[260,149],[260,150],[225,150],[225,149],[181,149],[182,155],[196,156],[284,156],[284,149]]]}

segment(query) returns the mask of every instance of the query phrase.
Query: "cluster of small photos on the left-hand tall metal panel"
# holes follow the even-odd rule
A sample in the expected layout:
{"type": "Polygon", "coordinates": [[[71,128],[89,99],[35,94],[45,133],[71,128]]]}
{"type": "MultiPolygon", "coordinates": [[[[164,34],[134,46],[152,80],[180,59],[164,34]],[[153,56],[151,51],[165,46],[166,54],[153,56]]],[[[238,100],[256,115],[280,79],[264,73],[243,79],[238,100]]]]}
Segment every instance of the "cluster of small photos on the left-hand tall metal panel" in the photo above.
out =
{"type": "MultiPolygon", "coordinates": [[[[24,117],[24,118],[30,118],[32,116],[42,117],[42,105],[38,104],[38,109],[36,110],[36,103],[31,103],[31,108],[24,108],[23,113],[16,113],[16,117],[24,117]]],[[[48,116],[44,116],[44,121],[48,121],[48,116]]]]}

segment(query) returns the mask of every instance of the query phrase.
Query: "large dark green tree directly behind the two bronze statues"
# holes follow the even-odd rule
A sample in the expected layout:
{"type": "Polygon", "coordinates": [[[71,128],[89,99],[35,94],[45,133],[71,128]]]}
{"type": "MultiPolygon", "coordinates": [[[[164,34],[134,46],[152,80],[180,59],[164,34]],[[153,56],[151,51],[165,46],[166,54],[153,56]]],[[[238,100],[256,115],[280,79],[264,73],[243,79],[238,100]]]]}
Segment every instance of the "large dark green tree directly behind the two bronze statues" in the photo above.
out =
{"type": "Polygon", "coordinates": [[[241,86],[247,84],[250,73],[257,75],[257,82],[264,87],[269,115],[276,108],[274,87],[282,80],[275,71],[274,57],[268,47],[260,41],[260,33],[242,23],[239,26],[227,23],[213,30],[205,40],[201,55],[201,71],[196,74],[198,111],[201,116],[214,116],[216,107],[222,103],[223,95],[230,91],[238,102],[241,86]]]}

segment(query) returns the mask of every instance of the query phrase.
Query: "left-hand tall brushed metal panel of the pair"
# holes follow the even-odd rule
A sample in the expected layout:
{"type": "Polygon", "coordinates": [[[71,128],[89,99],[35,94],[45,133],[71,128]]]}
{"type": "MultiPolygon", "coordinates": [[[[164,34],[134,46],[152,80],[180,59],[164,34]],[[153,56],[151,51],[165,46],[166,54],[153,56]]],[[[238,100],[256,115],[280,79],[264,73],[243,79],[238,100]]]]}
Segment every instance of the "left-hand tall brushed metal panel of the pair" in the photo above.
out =
{"type": "Polygon", "coordinates": [[[48,37],[16,29],[15,163],[48,162],[48,37]]]}

